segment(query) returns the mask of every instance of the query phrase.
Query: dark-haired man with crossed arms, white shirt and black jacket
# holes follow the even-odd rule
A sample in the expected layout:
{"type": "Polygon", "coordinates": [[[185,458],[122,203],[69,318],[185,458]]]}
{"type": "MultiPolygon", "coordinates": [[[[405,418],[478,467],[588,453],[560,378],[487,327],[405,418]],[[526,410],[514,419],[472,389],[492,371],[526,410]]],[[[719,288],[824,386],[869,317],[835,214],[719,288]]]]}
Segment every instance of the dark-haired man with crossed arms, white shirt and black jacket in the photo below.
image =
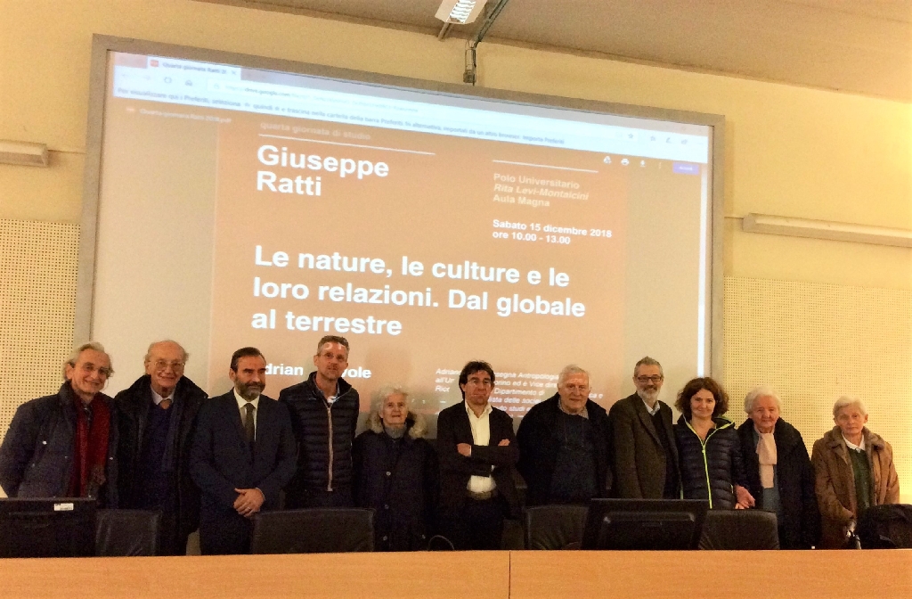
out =
{"type": "Polygon", "coordinates": [[[497,550],[504,516],[519,512],[513,418],[488,404],[494,387],[491,364],[467,363],[459,386],[463,401],[437,418],[440,530],[456,549],[497,550]]]}

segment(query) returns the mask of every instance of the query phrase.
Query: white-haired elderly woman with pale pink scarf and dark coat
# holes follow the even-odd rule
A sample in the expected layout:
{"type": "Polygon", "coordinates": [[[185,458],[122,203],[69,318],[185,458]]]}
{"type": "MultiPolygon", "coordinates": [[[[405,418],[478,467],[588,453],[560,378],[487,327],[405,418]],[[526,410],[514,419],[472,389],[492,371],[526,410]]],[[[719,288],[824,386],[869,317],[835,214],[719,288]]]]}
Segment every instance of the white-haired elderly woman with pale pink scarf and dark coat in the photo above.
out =
{"type": "Polygon", "coordinates": [[[782,402],[769,387],[744,398],[748,418],[738,427],[747,489],[756,507],[775,512],[782,549],[811,549],[820,537],[814,467],[801,433],[782,420],[782,402]]]}

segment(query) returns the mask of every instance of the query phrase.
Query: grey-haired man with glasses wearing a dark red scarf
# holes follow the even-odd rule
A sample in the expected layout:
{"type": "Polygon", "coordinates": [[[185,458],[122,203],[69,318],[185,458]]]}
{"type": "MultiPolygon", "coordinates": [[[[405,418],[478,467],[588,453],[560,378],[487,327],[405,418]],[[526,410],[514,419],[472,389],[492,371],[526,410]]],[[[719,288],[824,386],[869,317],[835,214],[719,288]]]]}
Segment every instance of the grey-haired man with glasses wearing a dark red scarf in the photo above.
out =
{"type": "Polygon", "coordinates": [[[101,393],[113,374],[104,347],[88,342],[64,363],[57,394],[20,405],[0,446],[9,497],[88,497],[117,507],[117,414],[101,393]]]}

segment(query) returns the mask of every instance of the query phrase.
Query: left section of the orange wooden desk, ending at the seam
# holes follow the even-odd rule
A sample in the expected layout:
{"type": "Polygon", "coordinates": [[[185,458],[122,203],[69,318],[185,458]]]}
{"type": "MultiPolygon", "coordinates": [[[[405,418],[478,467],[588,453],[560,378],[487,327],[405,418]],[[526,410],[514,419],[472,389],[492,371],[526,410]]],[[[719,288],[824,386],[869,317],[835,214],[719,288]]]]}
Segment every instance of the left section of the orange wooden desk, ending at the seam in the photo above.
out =
{"type": "Polygon", "coordinates": [[[505,599],[509,552],[0,560],[4,599],[505,599]]]}

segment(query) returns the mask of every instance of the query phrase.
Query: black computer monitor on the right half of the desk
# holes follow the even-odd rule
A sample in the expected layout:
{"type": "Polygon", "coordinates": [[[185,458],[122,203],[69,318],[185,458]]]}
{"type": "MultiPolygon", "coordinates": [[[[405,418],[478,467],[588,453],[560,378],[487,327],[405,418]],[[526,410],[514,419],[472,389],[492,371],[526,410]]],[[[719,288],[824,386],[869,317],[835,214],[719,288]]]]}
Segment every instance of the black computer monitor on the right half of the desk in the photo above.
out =
{"type": "Polygon", "coordinates": [[[709,507],[692,499],[592,499],[582,549],[697,549],[709,507]]]}

